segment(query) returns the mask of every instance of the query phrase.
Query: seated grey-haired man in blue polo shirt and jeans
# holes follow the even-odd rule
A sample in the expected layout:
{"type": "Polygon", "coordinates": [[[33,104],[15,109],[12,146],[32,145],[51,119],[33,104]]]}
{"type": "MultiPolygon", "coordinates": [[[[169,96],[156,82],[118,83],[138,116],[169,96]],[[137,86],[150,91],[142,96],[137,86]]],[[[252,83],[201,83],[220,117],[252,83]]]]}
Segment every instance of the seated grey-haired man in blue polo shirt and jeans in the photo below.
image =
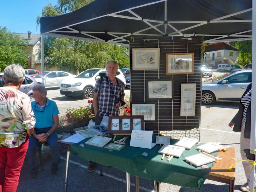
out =
{"type": "Polygon", "coordinates": [[[56,132],[59,126],[59,110],[54,101],[49,100],[46,95],[46,88],[42,85],[33,87],[33,95],[35,101],[31,103],[35,113],[36,124],[35,130],[29,137],[28,144],[28,161],[30,165],[30,177],[38,176],[38,164],[36,161],[36,152],[39,142],[47,141],[51,148],[52,164],[51,174],[58,172],[58,164],[60,163],[60,148],[57,144],[58,134],[56,132]]]}

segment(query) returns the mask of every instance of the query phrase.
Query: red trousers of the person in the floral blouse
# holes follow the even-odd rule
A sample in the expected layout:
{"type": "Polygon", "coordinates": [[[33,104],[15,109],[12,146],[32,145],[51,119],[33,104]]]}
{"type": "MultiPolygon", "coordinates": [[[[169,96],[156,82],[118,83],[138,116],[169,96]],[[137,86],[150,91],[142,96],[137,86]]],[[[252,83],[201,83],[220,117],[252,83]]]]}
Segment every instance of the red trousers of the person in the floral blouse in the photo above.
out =
{"type": "Polygon", "coordinates": [[[16,192],[27,148],[28,137],[19,147],[0,147],[0,192],[16,192]]]}

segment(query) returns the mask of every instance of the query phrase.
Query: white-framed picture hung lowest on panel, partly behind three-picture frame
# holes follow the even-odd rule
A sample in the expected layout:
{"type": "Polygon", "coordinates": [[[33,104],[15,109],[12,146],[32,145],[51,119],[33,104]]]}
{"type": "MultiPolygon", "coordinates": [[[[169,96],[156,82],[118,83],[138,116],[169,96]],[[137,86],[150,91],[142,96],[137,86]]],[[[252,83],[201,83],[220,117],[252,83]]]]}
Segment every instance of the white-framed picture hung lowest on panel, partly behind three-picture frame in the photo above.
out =
{"type": "Polygon", "coordinates": [[[156,102],[131,102],[131,115],[143,115],[144,122],[154,122],[157,120],[156,105],[156,102]]]}

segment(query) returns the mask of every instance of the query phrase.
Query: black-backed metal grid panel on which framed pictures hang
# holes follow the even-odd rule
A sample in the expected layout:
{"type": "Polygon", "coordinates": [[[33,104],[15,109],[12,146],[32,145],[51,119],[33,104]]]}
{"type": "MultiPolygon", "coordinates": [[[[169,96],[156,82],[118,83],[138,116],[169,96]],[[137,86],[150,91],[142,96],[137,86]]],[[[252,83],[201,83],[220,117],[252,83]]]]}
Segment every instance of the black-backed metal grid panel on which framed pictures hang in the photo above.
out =
{"type": "Polygon", "coordinates": [[[200,140],[200,113],[201,113],[201,71],[202,64],[202,40],[197,38],[172,40],[163,37],[161,39],[148,39],[130,41],[130,89],[131,100],[141,102],[146,100],[146,79],[173,78],[173,100],[158,100],[156,106],[156,122],[145,122],[145,130],[151,130],[154,134],[171,136],[181,139],[190,137],[200,140]],[[133,48],[160,48],[159,70],[133,70],[133,48]],[[194,52],[194,74],[166,75],[166,54],[194,52]],[[182,83],[196,83],[196,107],[195,116],[180,116],[180,96],[182,83]]]}

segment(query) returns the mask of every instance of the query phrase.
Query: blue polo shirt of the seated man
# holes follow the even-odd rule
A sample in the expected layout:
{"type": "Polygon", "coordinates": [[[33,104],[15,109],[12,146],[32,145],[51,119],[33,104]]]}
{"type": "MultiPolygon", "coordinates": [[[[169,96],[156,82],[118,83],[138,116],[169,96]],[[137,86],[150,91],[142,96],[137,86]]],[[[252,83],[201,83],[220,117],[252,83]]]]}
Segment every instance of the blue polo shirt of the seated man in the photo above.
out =
{"type": "Polygon", "coordinates": [[[60,113],[57,104],[54,101],[49,100],[47,97],[46,104],[42,108],[40,108],[38,103],[35,101],[31,102],[31,106],[36,118],[36,129],[51,127],[54,124],[53,116],[60,113]]]}

